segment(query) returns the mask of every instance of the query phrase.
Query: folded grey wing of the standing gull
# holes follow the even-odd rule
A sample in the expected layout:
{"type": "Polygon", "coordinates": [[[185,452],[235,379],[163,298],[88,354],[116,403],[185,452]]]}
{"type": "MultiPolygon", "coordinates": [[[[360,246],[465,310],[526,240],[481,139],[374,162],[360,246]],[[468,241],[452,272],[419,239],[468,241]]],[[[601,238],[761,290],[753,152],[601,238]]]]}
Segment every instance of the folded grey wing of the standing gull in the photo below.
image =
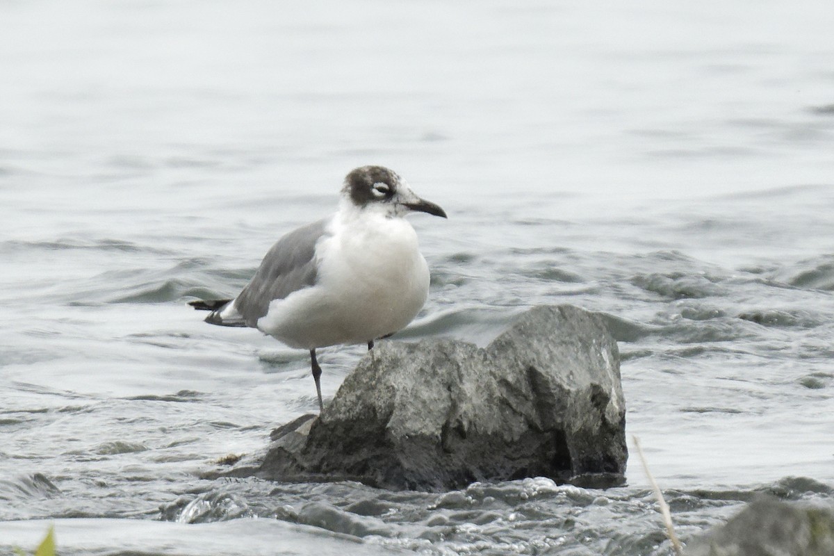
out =
{"type": "Polygon", "coordinates": [[[258,319],[267,313],[273,299],[283,299],[315,283],[315,245],[325,235],[329,221],[324,218],[302,226],[269,249],[258,272],[234,300],[234,308],[247,326],[258,326],[258,319]]]}

